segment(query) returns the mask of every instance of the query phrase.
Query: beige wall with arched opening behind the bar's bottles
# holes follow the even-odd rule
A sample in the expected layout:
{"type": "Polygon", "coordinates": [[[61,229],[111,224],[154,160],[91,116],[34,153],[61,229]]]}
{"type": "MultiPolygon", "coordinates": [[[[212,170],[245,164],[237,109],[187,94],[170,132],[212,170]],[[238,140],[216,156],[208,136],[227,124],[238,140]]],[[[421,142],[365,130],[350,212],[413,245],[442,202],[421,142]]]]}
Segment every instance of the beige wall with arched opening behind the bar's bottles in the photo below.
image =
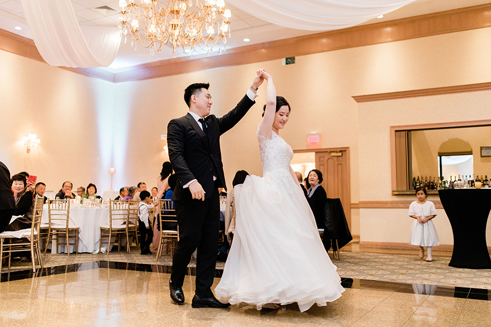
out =
{"type": "Polygon", "coordinates": [[[413,176],[438,176],[438,149],[451,138],[471,145],[474,174],[491,175],[491,157],[481,157],[481,147],[491,145],[491,127],[483,126],[412,131],[413,176]]]}

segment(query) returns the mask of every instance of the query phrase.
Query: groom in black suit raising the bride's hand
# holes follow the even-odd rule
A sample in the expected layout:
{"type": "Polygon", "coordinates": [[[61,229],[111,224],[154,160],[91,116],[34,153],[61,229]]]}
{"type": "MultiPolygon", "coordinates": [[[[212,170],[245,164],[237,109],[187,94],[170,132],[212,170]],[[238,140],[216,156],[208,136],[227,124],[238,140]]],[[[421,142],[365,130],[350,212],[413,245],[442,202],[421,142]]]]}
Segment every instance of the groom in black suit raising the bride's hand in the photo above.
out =
{"type": "Polygon", "coordinates": [[[167,145],[172,168],[178,176],[172,195],[175,201],[179,241],[172,260],[170,297],[184,304],[184,275],[197,248],[196,292],[193,308],[226,308],[211,291],[218,250],[220,204],[218,188],[226,188],[221,162],[220,135],[234,127],[255,103],[256,91],[264,81],[257,76],[237,106],[221,118],[210,115],[208,83],[189,85],[184,101],[189,112],[167,126],[167,145]]]}

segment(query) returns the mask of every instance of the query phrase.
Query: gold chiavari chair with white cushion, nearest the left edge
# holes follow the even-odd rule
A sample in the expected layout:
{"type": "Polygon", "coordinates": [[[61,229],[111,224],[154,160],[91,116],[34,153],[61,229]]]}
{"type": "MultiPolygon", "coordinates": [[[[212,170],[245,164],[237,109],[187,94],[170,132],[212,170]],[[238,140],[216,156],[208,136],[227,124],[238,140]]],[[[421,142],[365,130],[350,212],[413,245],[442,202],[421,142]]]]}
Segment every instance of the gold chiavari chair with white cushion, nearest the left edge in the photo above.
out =
{"type": "Polygon", "coordinates": [[[4,231],[3,233],[0,233],[0,272],[2,271],[4,253],[6,252],[9,253],[8,269],[10,269],[12,252],[20,251],[31,252],[33,272],[36,272],[36,257],[39,266],[41,266],[42,268],[41,250],[39,249],[39,225],[41,223],[43,202],[43,198],[36,198],[36,202],[34,204],[34,217],[32,219],[31,228],[21,230],[23,232],[22,235],[13,235],[14,233],[19,234],[18,232],[21,231],[4,231]],[[17,238],[17,236],[20,236],[20,238],[17,238]],[[9,241],[7,244],[5,244],[6,240],[9,241]]]}

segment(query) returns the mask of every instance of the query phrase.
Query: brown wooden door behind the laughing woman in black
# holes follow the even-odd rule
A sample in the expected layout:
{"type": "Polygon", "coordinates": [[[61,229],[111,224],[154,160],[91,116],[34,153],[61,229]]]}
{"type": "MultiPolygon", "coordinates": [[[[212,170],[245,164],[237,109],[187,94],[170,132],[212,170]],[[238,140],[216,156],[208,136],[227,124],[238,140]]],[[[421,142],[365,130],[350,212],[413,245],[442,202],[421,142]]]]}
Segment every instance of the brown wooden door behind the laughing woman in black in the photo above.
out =
{"type": "Polygon", "coordinates": [[[324,178],[321,185],[326,190],[327,197],[341,199],[348,226],[351,228],[349,150],[323,149],[322,152],[316,152],[316,168],[324,178]]]}

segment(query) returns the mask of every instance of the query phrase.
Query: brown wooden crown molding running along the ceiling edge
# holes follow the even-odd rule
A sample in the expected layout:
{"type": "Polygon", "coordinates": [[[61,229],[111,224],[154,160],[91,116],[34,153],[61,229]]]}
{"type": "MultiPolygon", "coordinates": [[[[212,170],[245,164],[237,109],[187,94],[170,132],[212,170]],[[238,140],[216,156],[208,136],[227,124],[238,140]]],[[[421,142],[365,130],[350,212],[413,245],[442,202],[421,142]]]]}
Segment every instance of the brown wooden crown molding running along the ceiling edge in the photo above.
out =
{"type": "MultiPolygon", "coordinates": [[[[120,83],[487,27],[491,27],[491,4],[241,46],[221,55],[156,61],[114,74],[101,68],[60,68],[120,83]]],[[[0,30],[0,50],[44,62],[32,40],[5,30],[0,30]]]]}

